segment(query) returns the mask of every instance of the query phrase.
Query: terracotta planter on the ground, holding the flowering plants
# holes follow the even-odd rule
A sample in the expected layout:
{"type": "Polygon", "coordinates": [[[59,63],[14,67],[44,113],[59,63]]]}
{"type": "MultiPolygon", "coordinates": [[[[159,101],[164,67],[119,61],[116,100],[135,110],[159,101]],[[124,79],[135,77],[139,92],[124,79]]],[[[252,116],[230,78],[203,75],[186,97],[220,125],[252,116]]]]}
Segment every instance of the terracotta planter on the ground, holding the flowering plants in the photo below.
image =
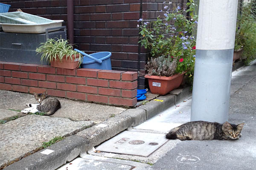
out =
{"type": "Polygon", "coordinates": [[[184,74],[185,73],[175,74],[170,77],[145,75],[145,78],[148,79],[149,88],[152,94],[166,95],[180,86],[184,74]]]}

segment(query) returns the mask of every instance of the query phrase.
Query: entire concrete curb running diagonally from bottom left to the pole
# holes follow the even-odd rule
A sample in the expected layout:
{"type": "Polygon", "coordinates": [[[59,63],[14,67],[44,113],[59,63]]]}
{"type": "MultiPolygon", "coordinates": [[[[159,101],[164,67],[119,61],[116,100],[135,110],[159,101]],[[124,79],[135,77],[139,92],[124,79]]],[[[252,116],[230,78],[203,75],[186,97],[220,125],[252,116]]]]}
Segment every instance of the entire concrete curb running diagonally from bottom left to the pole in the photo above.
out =
{"type": "Polygon", "coordinates": [[[72,161],[79,155],[87,154],[87,151],[92,147],[101,144],[128,127],[140,125],[190,95],[189,87],[186,87],[180,89],[177,95],[159,96],[156,98],[157,101],[151,100],[138,108],[128,109],[101,124],[82,130],[76,135],[66,137],[64,140],[46,148],[54,150],[49,155],[41,153],[46,149],[40,150],[9,165],[5,170],[55,170],[67,161],[72,161]]]}

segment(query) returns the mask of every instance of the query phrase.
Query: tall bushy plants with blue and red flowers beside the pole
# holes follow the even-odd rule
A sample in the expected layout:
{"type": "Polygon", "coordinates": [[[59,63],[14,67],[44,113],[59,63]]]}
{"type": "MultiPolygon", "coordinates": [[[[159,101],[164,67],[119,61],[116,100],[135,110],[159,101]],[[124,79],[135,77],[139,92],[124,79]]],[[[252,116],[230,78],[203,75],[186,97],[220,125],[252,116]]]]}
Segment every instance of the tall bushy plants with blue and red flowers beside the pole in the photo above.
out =
{"type": "Polygon", "coordinates": [[[186,71],[186,74],[192,77],[195,61],[195,37],[191,34],[197,26],[196,5],[193,0],[189,0],[186,4],[187,10],[181,9],[179,6],[171,10],[168,4],[164,3],[166,9],[164,18],[159,16],[157,20],[153,21],[138,20],[140,22],[138,25],[140,28],[139,42],[150,50],[151,58],[153,58],[148,61],[145,68],[152,75],[167,76],[166,71],[172,70],[172,75],[186,71]],[[183,15],[184,11],[189,13],[189,17],[183,15]],[[158,60],[154,59],[159,57],[161,58],[158,60]],[[171,65],[171,62],[176,62],[175,71],[173,71],[175,64],[171,65]],[[152,68],[153,66],[161,68],[152,68]]]}

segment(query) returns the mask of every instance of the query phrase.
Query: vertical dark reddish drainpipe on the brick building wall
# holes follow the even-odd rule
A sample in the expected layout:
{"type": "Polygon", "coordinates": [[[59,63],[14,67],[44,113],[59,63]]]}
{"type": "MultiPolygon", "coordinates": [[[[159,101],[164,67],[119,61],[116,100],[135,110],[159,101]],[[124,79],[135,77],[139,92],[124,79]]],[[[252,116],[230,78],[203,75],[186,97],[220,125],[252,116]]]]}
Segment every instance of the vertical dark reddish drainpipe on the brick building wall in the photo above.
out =
{"type": "Polygon", "coordinates": [[[74,43],[74,6],[73,0],[67,0],[67,36],[70,44],[74,43]]]}

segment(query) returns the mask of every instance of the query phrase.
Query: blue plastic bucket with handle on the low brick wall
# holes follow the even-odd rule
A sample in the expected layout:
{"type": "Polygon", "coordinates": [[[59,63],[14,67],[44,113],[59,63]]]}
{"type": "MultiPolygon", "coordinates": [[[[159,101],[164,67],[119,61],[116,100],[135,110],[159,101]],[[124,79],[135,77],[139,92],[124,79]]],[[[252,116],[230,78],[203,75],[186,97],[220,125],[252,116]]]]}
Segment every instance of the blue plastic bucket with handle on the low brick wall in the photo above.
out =
{"type": "Polygon", "coordinates": [[[81,68],[95,68],[101,70],[112,70],[111,68],[111,52],[104,51],[90,54],[90,56],[95,57],[102,61],[102,63],[96,62],[89,57],[84,56],[83,62],[81,63],[81,68]]]}

